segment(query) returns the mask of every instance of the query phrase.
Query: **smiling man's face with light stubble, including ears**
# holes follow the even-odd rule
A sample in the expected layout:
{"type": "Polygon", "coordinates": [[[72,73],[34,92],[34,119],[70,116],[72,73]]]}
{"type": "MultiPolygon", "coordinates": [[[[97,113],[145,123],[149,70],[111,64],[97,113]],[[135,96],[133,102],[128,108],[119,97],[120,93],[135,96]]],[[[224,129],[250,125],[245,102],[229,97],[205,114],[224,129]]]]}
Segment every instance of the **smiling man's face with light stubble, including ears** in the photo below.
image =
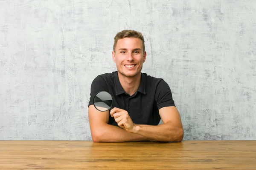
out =
{"type": "Polygon", "coordinates": [[[119,39],[115,52],[112,52],[112,58],[120,74],[126,77],[138,75],[146,59],[142,40],[139,38],[119,39]]]}

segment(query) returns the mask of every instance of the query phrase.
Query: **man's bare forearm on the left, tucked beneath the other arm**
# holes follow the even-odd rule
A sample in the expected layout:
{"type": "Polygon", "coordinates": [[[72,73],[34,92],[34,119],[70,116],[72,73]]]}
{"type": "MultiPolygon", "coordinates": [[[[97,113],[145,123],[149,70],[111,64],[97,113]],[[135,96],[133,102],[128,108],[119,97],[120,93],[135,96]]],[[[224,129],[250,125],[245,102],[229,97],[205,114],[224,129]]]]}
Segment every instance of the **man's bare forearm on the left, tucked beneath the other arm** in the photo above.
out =
{"type": "Polygon", "coordinates": [[[97,129],[99,133],[92,133],[94,142],[125,142],[148,141],[148,138],[135,133],[129,133],[120,127],[105,124],[97,129]]]}

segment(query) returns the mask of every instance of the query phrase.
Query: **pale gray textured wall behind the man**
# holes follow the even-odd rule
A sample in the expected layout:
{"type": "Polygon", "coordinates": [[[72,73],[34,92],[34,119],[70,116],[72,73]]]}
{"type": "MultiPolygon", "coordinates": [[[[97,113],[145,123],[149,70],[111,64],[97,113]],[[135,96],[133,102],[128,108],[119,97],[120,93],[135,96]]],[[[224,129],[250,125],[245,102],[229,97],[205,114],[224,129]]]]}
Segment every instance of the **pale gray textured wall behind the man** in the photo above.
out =
{"type": "Polygon", "coordinates": [[[0,140],[91,140],[90,84],[122,29],[143,32],[184,140],[256,139],[255,0],[0,0],[0,140]]]}

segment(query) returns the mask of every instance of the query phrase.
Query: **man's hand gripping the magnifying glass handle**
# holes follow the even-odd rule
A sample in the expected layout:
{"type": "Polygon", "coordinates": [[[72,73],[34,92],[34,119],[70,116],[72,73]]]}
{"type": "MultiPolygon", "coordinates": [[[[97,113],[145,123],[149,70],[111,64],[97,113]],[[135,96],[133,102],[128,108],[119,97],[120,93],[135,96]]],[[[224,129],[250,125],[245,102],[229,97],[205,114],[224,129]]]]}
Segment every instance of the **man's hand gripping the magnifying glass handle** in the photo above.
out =
{"type": "Polygon", "coordinates": [[[115,121],[119,127],[123,128],[124,130],[130,133],[135,132],[136,125],[133,123],[133,121],[130,118],[130,115],[126,110],[115,107],[110,111],[110,115],[111,117],[115,118],[115,121]]]}

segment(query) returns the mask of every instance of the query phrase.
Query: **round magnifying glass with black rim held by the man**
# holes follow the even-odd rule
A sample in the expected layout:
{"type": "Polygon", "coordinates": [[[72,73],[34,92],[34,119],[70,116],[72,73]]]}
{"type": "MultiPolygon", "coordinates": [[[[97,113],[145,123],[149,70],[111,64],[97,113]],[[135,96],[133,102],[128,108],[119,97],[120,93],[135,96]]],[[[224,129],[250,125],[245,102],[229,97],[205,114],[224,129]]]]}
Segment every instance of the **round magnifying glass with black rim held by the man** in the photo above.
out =
{"type": "Polygon", "coordinates": [[[113,98],[108,92],[97,92],[93,97],[93,105],[97,110],[101,112],[111,110],[113,105],[113,98]]]}

